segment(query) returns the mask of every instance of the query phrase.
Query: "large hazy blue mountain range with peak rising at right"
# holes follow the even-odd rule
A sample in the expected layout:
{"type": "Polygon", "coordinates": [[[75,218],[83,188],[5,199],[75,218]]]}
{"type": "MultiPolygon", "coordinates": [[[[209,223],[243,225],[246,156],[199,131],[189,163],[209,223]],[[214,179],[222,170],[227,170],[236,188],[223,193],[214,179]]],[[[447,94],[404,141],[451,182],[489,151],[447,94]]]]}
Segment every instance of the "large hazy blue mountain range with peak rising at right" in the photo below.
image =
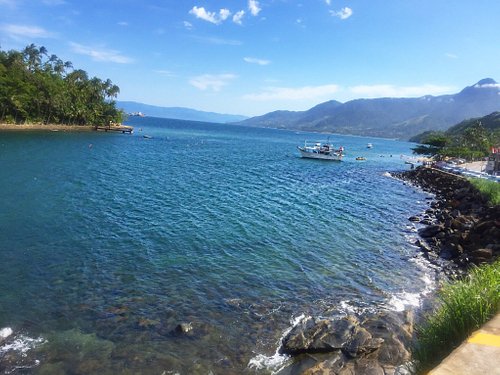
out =
{"type": "Polygon", "coordinates": [[[238,124],[409,139],[499,110],[500,85],[486,78],[454,95],[357,99],[346,103],[332,100],[307,111],[276,111],[238,124]]]}

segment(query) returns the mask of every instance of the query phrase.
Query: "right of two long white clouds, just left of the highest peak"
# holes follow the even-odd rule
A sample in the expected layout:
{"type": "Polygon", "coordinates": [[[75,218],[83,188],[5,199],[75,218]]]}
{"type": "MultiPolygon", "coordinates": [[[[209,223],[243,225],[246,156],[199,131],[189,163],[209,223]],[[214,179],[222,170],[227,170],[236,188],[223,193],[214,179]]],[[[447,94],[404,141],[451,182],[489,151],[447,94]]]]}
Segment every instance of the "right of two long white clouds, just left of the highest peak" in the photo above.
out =
{"type": "Polygon", "coordinates": [[[357,97],[363,98],[406,98],[424,95],[443,95],[450,93],[454,87],[438,85],[394,86],[394,85],[359,85],[348,89],[357,97]]]}

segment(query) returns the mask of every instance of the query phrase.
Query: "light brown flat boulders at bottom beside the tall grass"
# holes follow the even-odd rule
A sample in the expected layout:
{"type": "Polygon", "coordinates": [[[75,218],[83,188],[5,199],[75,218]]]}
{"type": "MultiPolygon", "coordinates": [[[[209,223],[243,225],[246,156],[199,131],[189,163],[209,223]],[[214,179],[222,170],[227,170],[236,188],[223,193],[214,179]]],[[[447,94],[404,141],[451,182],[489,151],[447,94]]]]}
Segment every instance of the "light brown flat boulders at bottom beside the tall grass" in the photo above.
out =
{"type": "Polygon", "coordinates": [[[409,312],[307,317],[283,338],[280,352],[294,356],[292,373],[405,373],[412,319],[409,312]]]}

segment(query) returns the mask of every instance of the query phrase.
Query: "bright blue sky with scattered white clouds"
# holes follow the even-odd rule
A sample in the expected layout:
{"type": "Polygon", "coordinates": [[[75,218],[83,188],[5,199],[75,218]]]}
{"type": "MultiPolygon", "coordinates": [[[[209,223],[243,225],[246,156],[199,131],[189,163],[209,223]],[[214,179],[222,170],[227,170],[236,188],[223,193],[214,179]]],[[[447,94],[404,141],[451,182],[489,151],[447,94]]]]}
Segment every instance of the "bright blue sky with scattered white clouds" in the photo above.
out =
{"type": "Polygon", "coordinates": [[[498,0],[0,0],[0,46],[45,46],[119,100],[255,116],[500,81],[499,17],[498,0]]]}

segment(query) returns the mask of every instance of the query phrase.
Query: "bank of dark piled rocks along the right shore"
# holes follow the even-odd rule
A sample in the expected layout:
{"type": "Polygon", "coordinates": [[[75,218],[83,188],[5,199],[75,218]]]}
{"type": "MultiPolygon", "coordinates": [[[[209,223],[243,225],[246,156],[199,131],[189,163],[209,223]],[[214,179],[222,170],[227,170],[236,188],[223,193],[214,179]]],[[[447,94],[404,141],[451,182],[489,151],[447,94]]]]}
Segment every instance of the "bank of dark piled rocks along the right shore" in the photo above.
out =
{"type": "Polygon", "coordinates": [[[394,175],[435,194],[429,209],[409,218],[425,225],[416,244],[429,260],[450,261],[445,271],[454,273],[500,255],[500,206],[488,204],[468,180],[424,167],[394,175]]]}

